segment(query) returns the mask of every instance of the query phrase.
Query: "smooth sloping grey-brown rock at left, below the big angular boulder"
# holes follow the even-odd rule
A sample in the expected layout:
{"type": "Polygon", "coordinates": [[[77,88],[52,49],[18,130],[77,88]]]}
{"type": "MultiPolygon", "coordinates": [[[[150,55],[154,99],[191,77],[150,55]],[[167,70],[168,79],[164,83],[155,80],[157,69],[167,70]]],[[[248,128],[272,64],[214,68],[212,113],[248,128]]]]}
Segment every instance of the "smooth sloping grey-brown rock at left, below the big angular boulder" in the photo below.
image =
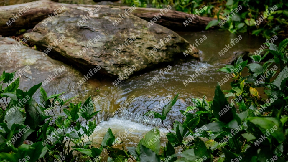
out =
{"type": "MultiPolygon", "coordinates": [[[[21,75],[20,89],[29,90],[32,86],[43,82],[42,87],[49,96],[65,92],[60,96],[65,96],[66,100],[77,95],[82,100],[85,100],[90,95],[93,98],[94,92],[92,91],[92,86],[86,83],[82,86],[77,85],[77,82],[83,78],[80,72],[60,61],[51,59],[49,56],[44,57],[39,51],[17,43],[12,38],[0,37],[0,74],[2,74],[3,70],[9,73],[17,71],[15,74],[19,73],[21,75]],[[17,48],[16,51],[8,56],[6,52],[15,47],[17,48]],[[59,68],[63,69],[62,72],[58,71],[56,76],[52,75],[54,70],[58,70],[59,68]],[[19,69],[22,71],[21,73],[19,69]],[[49,76],[55,78],[50,79],[50,82],[44,82],[45,80],[47,81],[47,78],[50,78],[49,76]]],[[[39,95],[40,92],[37,90],[34,98],[38,102],[39,95]]],[[[76,101],[79,99],[76,98],[76,101]]]]}

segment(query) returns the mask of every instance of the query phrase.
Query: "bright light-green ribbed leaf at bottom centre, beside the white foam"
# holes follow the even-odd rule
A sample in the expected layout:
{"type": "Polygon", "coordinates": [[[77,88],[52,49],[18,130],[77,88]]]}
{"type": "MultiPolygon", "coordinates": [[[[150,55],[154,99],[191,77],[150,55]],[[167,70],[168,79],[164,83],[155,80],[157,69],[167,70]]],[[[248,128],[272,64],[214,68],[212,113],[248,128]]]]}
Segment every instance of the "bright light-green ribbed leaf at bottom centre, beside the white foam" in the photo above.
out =
{"type": "Polygon", "coordinates": [[[151,149],[156,154],[159,154],[160,151],[160,139],[159,139],[159,129],[153,128],[147,132],[144,137],[140,140],[137,150],[139,151],[140,144],[151,149]],[[155,142],[154,142],[155,141],[155,142]]]}

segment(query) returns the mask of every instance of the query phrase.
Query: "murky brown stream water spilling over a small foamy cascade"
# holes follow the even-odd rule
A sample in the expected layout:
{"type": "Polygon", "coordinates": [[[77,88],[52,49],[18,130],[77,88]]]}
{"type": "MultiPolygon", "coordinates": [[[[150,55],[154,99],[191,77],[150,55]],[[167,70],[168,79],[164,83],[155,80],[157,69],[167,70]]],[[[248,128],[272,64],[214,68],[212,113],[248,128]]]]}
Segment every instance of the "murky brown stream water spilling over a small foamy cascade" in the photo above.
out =
{"type": "MultiPolygon", "coordinates": [[[[162,74],[152,86],[149,86],[148,82],[168,65],[131,77],[129,80],[122,81],[117,87],[114,87],[110,80],[91,83],[100,85],[97,88],[97,93],[101,100],[96,104],[96,110],[104,110],[98,114],[97,118],[98,122],[101,121],[99,123],[101,129],[93,135],[93,139],[97,143],[101,143],[109,127],[114,134],[116,133],[116,138],[123,135],[125,130],[136,128],[133,132],[128,132],[128,137],[122,141],[124,141],[124,146],[137,146],[146,132],[155,126],[162,125],[160,120],[144,116],[144,114],[149,110],[162,112],[163,106],[177,93],[179,93],[178,100],[164,124],[172,125],[175,120],[182,121],[183,115],[179,110],[186,110],[188,106],[193,105],[192,98],[201,98],[206,95],[207,100],[213,99],[217,83],[223,80],[226,75],[224,72],[216,71],[231,62],[230,60],[236,52],[248,51],[253,53],[261,47],[261,44],[266,42],[265,39],[242,34],[242,39],[220,57],[218,52],[223,50],[225,44],[228,45],[231,39],[235,39],[238,35],[227,31],[178,32],[178,34],[190,44],[194,44],[195,39],[199,40],[203,35],[207,37],[197,47],[201,57],[199,62],[187,57],[187,60],[168,64],[172,68],[168,72],[164,72],[164,75],[162,74]],[[201,72],[200,68],[204,69],[204,67],[207,69],[201,72]],[[195,74],[195,70],[198,70],[199,75],[185,86],[183,82],[188,80],[190,75],[195,74]]],[[[183,49],[183,52],[185,50],[183,49]]],[[[242,73],[245,72],[247,69],[242,73]]],[[[229,82],[231,79],[221,89],[230,89],[229,82]]],[[[161,138],[161,142],[162,146],[165,146],[165,137],[161,138]]]]}

